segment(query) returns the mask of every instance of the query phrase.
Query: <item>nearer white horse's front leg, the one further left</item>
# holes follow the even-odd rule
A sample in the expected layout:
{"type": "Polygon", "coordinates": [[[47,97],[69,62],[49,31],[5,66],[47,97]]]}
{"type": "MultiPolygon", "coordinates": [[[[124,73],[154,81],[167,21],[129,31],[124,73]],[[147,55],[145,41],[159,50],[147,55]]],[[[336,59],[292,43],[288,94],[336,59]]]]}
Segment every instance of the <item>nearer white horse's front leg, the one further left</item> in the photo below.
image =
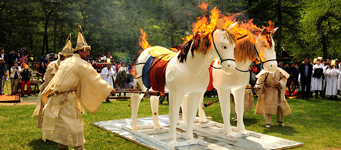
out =
{"type": "Polygon", "coordinates": [[[169,91],[169,143],[173,146],[177,146],[179,142],[177,142],[176,137],[176,126],[179,119],[179,110],[182,99],[184,97],[178,91],[169,91]]]}

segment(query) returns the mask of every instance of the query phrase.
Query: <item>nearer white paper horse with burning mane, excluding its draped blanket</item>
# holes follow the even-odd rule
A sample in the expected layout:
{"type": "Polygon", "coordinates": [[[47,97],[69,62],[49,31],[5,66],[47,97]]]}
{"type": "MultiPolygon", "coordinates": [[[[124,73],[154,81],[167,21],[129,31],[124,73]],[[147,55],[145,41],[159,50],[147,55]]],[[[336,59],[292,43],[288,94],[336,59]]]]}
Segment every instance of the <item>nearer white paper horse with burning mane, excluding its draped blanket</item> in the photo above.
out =
{"type": "MultiPolygon", "coordinates": [[[[221,58],[221,71],[226,74],[232,74],[236,70],[236,63],[233,51],[236,46],[236,38],[232,28],[237,23],[231,25],[228,29],[223,28],[222,19],[218,22],[218,29],[212,34],[196,33],[194,37],[188,41],[168,62],[165,73],[165,82],[169,91],[169,122],[170,133],[169,143],[174,146],[178,145],[176,141],[176,124],[179,118],[179,109],[183,99],[187,100],[187,130],[186,137],[190,144],[194,144],[196,140],[193,138],[193,125],[196,117],[197,106],[199,104],[201,93],[206,91],[209,82],[208,68],[215,57],[221,58]],[[225,61],[226,60],[226,61],[225,61]],[[194,107],[195,106],[195,107],[194,107]]],[[[150,48],[148,48],[150,49],[150,48]]],[[[151,56],[148,49],[144,50],[136,63],[146,62],[151,56]]],[[[136,65],[135,71],[137,76],[142,75],[143,65],[136,65]]],[[[146,91],[142,79],[134,80],[134,89],[146,91]]],[[[137,128],[137,112],[141,98],[143,95],[132,95],[132,118],[131,126],[134,130],[137,128]]],[[[158,129],[162,126],[158,120],[158,97],[151,96],[151,105],[153,111],[154,128],[158,129]]]]}

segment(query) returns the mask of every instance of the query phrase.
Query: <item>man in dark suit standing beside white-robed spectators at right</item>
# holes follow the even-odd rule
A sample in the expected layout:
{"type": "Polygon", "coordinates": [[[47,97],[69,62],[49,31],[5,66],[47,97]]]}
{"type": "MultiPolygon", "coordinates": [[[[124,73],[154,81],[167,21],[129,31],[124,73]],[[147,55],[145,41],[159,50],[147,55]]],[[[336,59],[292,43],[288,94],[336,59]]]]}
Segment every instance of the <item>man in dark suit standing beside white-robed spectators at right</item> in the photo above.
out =
{"type": "Polygon", "coordinates": [[[299,67],[299,73],[301,74],[301,99],[309,99],[312,65],[309,63],[309,57],[304,57],[304,63],[299,67]]]}

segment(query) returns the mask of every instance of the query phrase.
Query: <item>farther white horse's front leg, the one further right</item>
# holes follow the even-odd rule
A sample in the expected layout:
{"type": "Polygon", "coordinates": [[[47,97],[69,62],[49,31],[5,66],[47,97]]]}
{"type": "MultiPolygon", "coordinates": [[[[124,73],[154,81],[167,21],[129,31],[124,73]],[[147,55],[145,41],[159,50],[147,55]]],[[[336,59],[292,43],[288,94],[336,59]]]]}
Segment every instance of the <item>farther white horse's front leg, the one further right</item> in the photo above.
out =
{"type": "Polygon", "coordinates": [[[245,88],[237,89],[233,91],[233,96],[235,97],[236,103],[236,113],[237,113],[237,130],[241,134],[246,134],[243,115],[244,115],[244,98],[245,98],[245,88]],[[235,94],[236,93],[236,94],[235,94]]]}

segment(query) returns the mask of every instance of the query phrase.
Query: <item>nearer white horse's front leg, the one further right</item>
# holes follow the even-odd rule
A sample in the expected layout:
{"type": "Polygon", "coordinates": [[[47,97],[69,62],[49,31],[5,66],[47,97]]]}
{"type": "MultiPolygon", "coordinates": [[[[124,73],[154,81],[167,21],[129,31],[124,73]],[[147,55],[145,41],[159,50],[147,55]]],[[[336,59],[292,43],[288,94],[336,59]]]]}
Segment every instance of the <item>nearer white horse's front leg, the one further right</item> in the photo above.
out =
{"type": "Polygon", "coordinates": [[[189,144],[195,144],[196,140],[193,137],[193,125],[197,116],[197,106],[199,104],[200,93],[189,93],[187,99],[187,127],[186,138],[189,144]]]}

